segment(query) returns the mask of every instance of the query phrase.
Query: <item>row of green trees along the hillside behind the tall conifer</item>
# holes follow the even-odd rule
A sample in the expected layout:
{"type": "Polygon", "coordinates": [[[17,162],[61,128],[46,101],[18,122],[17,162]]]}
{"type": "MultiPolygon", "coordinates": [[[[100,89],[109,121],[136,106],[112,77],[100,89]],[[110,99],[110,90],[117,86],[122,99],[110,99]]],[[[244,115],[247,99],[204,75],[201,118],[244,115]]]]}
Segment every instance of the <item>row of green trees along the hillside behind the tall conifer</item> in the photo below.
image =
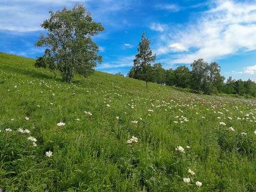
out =
{"type": "MultiPolygon", "coordinates": [[[[149,65],[147,70],[148,82],[169,86],[191,89],[203,94],[234,94],[245,98],[256,98],[256,83],[248,79],[232,79],[229,77],[224,83],[225,77],[220,75],[220,66],[217,62],[210,65],[203,59],[191,63],[191,70],[187,66],[179,66],[176,69],[164,69],[161,63],[149,65]]],[[[127,77],[144,80],[145,74],[141,68],[132,67],[127,77]]]]}

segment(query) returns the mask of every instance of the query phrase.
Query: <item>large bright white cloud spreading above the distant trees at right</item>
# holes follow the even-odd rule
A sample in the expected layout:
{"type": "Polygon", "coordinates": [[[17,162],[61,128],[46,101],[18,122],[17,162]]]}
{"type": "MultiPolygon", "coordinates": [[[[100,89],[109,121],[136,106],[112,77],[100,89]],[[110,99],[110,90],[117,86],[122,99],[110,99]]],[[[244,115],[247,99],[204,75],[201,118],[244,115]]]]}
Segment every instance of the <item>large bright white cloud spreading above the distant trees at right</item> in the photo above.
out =
{"type": "MultiPolygon", "coordinates": [[[[170,27],[171,29],[171,27],[170,27]]],[[[184,53],[175,54],[171,63],[191,63],[222,59],[229,54],[256,50],[256,4],[217,1],[210,11],[201,13],[172,31],[163,31],[158,54],[177,52],[170,49],[182,45],[184,53]]]]}

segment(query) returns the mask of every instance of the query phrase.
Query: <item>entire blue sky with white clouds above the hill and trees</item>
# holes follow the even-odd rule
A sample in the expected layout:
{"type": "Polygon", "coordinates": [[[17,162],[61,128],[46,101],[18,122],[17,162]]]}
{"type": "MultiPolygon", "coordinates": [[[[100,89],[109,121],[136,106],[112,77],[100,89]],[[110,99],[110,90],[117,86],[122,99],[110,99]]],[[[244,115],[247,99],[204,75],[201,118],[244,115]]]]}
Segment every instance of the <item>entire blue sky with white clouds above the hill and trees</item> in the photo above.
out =
{"type": "Polygon", "coordinates": [[[203,58],[216,61],[226,79],[256,82],[256,1],[236,0],[1,0],[0,51],[36,58],[39,26],[49,11],[85,5],[105,31],[95,36],[103,62],[96,70],[126,75],[142,32],[165,69],[203,58]]]}

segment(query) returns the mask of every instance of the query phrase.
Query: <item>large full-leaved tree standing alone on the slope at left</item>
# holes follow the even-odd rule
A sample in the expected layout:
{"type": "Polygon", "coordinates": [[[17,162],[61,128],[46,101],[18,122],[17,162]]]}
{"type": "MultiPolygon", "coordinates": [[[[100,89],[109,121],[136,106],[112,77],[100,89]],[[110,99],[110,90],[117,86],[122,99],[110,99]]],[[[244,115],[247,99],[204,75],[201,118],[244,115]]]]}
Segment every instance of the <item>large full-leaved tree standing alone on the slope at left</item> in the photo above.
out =
{"type": "Polygon", "coordinates": [[[41,27],[49,33],[40,34],[35,46],[47,47],[42,57],[38,57],[36,67],[49,67],[59,70],[66,82],[70,83],[74,74],[87,77],[92,74],[102,56],[97,55],[99,46],[92,41],[92,36],[105,30],[101,23],[92,21],[91,13],[86,12],[82,4],[73,9],[66,7],[56,13],[50,11],[50,19],[46,19],[41,27]]]}

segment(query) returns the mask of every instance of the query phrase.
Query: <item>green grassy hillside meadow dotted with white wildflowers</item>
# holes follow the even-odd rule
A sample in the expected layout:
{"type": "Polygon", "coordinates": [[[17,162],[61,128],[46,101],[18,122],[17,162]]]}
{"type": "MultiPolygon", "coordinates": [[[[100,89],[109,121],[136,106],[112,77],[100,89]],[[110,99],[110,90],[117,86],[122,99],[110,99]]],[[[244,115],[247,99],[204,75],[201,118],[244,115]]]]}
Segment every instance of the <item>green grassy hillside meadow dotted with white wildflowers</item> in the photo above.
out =
{"type": "Polygon", "coordinates": [[[256,100],[0,53],[2,191],[256,191],[256,100]]]}

